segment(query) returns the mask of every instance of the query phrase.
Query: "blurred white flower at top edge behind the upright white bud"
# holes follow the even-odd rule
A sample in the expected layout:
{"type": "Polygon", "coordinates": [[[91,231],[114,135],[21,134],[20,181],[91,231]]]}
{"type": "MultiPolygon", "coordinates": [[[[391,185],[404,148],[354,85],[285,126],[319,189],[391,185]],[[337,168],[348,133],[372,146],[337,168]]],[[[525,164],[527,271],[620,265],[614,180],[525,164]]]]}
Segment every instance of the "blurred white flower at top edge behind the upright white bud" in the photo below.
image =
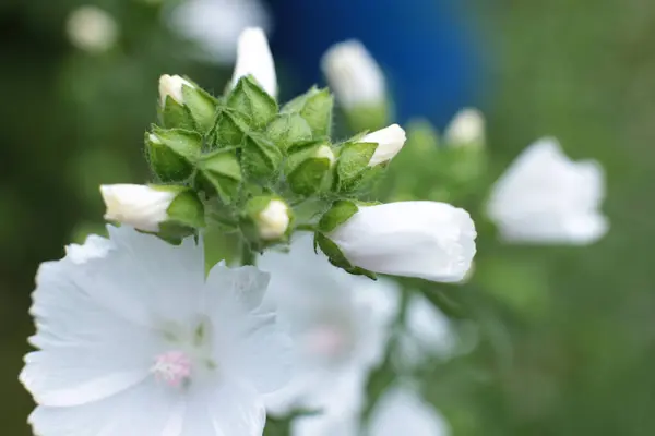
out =
{"type": "Polygon", "coordinates": [[[199,45],[202,59],[230,64],[237,59],[241,32],[269,31],[271,19],[260,0],[186,0],[172,11],[170,25],[199,45]]]}

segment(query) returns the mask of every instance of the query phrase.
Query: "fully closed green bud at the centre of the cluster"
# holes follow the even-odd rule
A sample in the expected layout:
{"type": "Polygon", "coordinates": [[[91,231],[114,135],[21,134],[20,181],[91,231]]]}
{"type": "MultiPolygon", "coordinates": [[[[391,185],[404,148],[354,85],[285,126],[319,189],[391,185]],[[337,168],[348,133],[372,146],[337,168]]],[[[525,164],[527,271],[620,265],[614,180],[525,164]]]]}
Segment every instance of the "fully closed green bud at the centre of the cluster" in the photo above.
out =
{"type": "Polygon", "coordinates": [[[265,181],[277,174],[283,160],[279,148],[269,138],[250,133],[241,145],[241,167],[248,179],[265,181]]]}

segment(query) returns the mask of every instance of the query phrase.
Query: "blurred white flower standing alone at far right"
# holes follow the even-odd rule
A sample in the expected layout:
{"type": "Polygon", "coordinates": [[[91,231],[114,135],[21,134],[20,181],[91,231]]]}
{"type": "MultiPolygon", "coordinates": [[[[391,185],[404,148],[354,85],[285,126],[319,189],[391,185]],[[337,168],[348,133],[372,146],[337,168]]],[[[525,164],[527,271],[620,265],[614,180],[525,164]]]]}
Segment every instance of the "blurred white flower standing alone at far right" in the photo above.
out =
{"type": "Polygon", "coordinates": [[[598,162],[574,162],[544,138],[496,182],[487,213],[509,242],[588,244],[609,228],[599,211],[604,179],[598,162]]]}

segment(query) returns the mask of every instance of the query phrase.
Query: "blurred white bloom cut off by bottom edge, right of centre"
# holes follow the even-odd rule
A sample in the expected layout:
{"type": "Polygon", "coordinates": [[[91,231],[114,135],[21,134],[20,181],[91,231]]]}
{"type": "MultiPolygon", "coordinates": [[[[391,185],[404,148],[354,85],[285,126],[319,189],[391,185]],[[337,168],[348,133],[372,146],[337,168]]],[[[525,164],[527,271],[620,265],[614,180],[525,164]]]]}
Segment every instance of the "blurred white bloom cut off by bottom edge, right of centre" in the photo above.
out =
{"type": "Polygon", "coordinates": [[[414,391],[393,387],[379,400],[370,421],[370,436],[445,436],[444,419],[414,391]]]}

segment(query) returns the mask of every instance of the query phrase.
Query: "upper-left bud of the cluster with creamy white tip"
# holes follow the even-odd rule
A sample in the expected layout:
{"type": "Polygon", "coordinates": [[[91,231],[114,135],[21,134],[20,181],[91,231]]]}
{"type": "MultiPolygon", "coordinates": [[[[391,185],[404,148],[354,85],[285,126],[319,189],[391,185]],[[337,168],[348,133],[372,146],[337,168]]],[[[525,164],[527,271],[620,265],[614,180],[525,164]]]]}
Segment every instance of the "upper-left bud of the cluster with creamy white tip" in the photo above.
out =
{"type": "Polygon", "coordinates": [[[214,125],[215,99],[202,88],[179,75],[159,78],[162,123],[167,129],[209,132],[214,125]]]}

